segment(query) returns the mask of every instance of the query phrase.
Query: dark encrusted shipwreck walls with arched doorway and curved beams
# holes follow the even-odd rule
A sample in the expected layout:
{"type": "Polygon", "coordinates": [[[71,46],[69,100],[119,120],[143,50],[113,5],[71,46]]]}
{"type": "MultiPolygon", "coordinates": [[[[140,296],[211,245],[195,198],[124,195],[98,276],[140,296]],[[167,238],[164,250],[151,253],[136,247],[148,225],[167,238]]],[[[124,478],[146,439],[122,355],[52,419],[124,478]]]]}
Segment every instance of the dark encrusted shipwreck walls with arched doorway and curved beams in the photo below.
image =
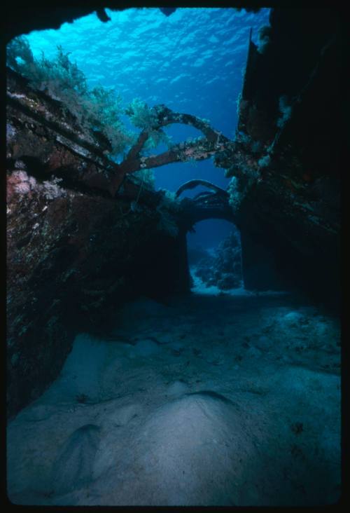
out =
{"type": "MultiPolygon", "coordinates": [[[[8,39],[85,11],[60,8],[52,15],[44,9],[39,20],[17,19],[13,12],[8,39]]],[[[99,18],[109,19],[104,10],[99,18]]],[[[153,133],[183,123],[202,137],[144,156],[145,128],[120,163],[111,158],[103,130],[92,130],[62,100],[7,69],[9,420],[55,381],[76,334],[108,337],[116,309],[139,296],[186,297],[186,234],[204,219],[225,219],[239,229],[246,289],[302,292],[339,314],[339,15],[273,8],[260,38],[260,48],[251,36],[248,41],[234,139],[209,121],[158,105],[153,133]],[[155,191],[140,175],[206,158],[231,177],[227,190],[198,177],[170,194],[155,191]],[[181,196],[197,186],[207,190],[181,196]]],[[[209,402],[221,400],[215,392],[202,393],[209,402]]],[[[93,426],[87,427],[93,439],[93,426]]],[[[296,435],[302,429],[300,423],[293,427],[296,435]]]]}

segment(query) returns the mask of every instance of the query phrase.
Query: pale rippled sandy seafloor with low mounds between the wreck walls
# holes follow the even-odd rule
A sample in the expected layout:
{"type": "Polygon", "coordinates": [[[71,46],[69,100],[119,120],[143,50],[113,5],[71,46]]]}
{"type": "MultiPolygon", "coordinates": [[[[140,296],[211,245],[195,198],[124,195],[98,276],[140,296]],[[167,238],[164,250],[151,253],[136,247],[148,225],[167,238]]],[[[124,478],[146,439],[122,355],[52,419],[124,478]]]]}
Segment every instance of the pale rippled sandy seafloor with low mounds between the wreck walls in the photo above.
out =
{"type": "Polygon", "coordinates": [[[323,505],[340,494],[339,321],[289,294],[142,298],[8,425],[31,505],[323,505]]]}

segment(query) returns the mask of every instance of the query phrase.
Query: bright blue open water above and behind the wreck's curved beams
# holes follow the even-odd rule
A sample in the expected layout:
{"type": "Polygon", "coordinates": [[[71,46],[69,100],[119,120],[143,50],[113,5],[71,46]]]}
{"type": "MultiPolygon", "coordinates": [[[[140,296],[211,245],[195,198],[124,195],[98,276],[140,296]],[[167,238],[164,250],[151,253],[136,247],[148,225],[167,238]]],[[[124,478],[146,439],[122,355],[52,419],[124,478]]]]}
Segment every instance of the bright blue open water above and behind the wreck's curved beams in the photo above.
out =
{"type": "MultiPolygon", "coordinates": [[[[253,29],[257,41],[259,27],[268,25],[269,9],[246,13],[233,8],[178,8],[169,17],[158,8],[106,9],[106,13],[111,18],[106,23],[91,14],[64,23],[59,30],[31,32],[34,55],[40,57],[43,51],[53,58],[57,45],[62,45],[89,86],[116,87],[125,105],[139,97],[149,106],[164,103],[174,111],[207,118],[214,128],[234,137],[249,31],[253,29]]],[[[172,125],[166,131],[174,142],[200,135],[185,125],[172,125]]],[[[155,187],[175,191],[193,178],[228,186],[223,170],[212,160],[203,160],[158,167],[155,187]]],[[[203,221],[188,240],[191,245],[211,247],[230,228],[225,221],[203,221]]]]}

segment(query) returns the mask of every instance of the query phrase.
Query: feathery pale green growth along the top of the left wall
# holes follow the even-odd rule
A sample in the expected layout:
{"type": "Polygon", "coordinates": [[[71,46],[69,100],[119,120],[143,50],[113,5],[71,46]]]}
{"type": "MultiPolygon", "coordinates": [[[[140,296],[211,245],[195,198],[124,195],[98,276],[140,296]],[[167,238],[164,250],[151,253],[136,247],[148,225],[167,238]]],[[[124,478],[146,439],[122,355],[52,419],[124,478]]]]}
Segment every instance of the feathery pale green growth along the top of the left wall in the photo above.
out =
{"type": "Polygon", "coordinates": [[[62,46],[57,46],[54,60],[48,60],[43,53],[36,59],[25,36],[19,36],[8,43],[6,53],[8,67],[28,78],[31,87],[61,101],[83,127],[103,132],[111,143],[111,158],[127,153],[137,139],[137,134],[127,130],[120,120],[122,114],[130,116],[135,127],[150,130],[144,149],[154,148],[160,142],[169,144],[165,132],[155,129],[154,109],[135,99],[125,110],[123,99],[114,88],[88,88],[83,71],[69,60],[69,53],[64,53],[62,46]]]}

